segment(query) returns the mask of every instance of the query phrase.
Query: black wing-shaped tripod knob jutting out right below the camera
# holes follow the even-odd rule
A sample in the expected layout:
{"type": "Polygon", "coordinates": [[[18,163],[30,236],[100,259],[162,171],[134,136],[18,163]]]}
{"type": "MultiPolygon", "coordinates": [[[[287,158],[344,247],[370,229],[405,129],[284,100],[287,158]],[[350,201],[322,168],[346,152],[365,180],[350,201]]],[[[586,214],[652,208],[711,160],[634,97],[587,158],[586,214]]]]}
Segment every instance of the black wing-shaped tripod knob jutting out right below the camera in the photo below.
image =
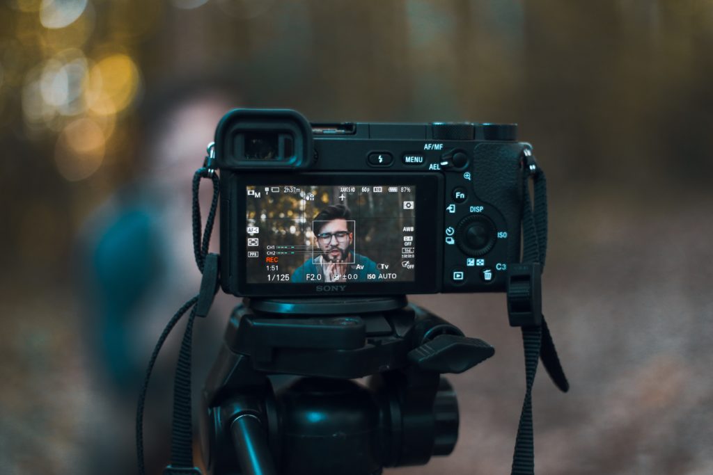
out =
{"type": "Polygon", "coordinates": [[[438,335],[409,351],[407,357],[421,370],[460,373],[494,354],[495,348],[478,338],[438,335]]]}

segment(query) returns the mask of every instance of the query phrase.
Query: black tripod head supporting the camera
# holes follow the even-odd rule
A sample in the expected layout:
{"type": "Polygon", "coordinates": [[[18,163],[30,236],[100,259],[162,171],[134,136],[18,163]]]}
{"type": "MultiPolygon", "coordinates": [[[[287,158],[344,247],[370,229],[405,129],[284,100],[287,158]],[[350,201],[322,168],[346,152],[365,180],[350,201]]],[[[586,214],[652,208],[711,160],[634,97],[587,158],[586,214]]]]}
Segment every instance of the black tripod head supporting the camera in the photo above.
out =
{"type": "Polygon", "coordinates": [[[458,402],[441,374],[493,353],[405,296],[246,298],[203,391],[205,463],[214,475],[426,464],[458,437],[458,402]],[[279,388],[268,375],[301,377],[279,388]],[[366,385],[352,381],[366,376],[366,385]]]}

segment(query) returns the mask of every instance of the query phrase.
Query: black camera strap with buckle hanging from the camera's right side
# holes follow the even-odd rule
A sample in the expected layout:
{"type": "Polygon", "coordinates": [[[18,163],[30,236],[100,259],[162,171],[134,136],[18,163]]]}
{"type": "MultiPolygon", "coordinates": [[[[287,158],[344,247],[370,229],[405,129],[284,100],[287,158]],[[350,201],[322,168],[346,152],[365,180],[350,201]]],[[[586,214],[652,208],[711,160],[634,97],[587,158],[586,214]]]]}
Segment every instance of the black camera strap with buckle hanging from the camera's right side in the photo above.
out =
{"type": "Polygon", "coordinates": [[[532,387],[540,358],[555,386],[563,392],[570,387],[542,314],[540,276],[547,252],[547,191],[545,173],[529,148],[523,150],[523,170],[523,259],[508,276],[508,316],[511,325],[522,330],[525,353],[525,400],[515,439],[513,475],[535,473],[532,387]],[[534,204],[530,204],[530,178],[534,204]]]}

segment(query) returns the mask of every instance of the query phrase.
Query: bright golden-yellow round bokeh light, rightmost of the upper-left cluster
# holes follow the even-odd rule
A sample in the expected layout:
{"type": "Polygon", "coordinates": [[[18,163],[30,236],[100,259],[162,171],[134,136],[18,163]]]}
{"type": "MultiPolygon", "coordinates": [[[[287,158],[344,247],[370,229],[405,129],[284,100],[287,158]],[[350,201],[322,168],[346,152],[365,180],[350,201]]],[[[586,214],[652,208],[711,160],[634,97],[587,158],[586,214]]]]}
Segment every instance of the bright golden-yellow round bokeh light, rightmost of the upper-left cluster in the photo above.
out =
{"type": "Polygon", "coordinates": [[[138,67],[123,53],[106,56],[91,68],[85,87],[93,113],[119,113],[131,104],[140,90],[138,67]]]}

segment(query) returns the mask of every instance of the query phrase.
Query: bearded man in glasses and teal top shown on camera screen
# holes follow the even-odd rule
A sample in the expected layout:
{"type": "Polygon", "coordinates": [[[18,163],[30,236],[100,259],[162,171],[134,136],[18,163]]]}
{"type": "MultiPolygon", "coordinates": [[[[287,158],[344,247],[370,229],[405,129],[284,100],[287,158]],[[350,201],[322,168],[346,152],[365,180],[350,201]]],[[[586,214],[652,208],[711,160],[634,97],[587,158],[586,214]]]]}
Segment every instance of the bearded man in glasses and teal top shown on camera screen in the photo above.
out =
{"type": "Polygon", "coordinates": [[[292,274],[292,281],[306,282],[307,273],[321,275],[320,281],[366,281],[367,275],[379,276],[376,263],[352,249],[354,231],[352,210],[344,204],[332,204],[314,216],[312,226],[322,254],[309,259],[292,274]]]}

